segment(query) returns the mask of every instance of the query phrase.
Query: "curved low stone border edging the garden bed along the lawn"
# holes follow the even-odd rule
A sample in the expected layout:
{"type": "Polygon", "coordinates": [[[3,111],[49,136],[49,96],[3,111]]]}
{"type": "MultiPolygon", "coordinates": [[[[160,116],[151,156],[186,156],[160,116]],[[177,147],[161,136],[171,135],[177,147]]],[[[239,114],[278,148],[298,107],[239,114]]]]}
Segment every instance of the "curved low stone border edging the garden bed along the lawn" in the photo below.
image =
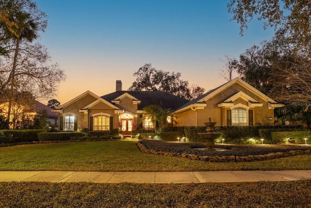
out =
{"type": "Polygon", "coordinates": [[[174,153],[174,152],[164,152],[157,150],[149,150],[144,146],[141,141],[137,143],[138,149],[147,154],[156,154],[170,157],[180,157],[187,158],[190,160],[202,160],[207,162],[255,162],[263,160],[272,160],[281,157],[289,157],[298,154],[311,154],[311,150],[291,150],[285,152],[271,152],[268,154],[259,154],[259,155],[248,155],[248,156],[198,156],[194,154],[185,154],[185,153],[174,153]]]}

